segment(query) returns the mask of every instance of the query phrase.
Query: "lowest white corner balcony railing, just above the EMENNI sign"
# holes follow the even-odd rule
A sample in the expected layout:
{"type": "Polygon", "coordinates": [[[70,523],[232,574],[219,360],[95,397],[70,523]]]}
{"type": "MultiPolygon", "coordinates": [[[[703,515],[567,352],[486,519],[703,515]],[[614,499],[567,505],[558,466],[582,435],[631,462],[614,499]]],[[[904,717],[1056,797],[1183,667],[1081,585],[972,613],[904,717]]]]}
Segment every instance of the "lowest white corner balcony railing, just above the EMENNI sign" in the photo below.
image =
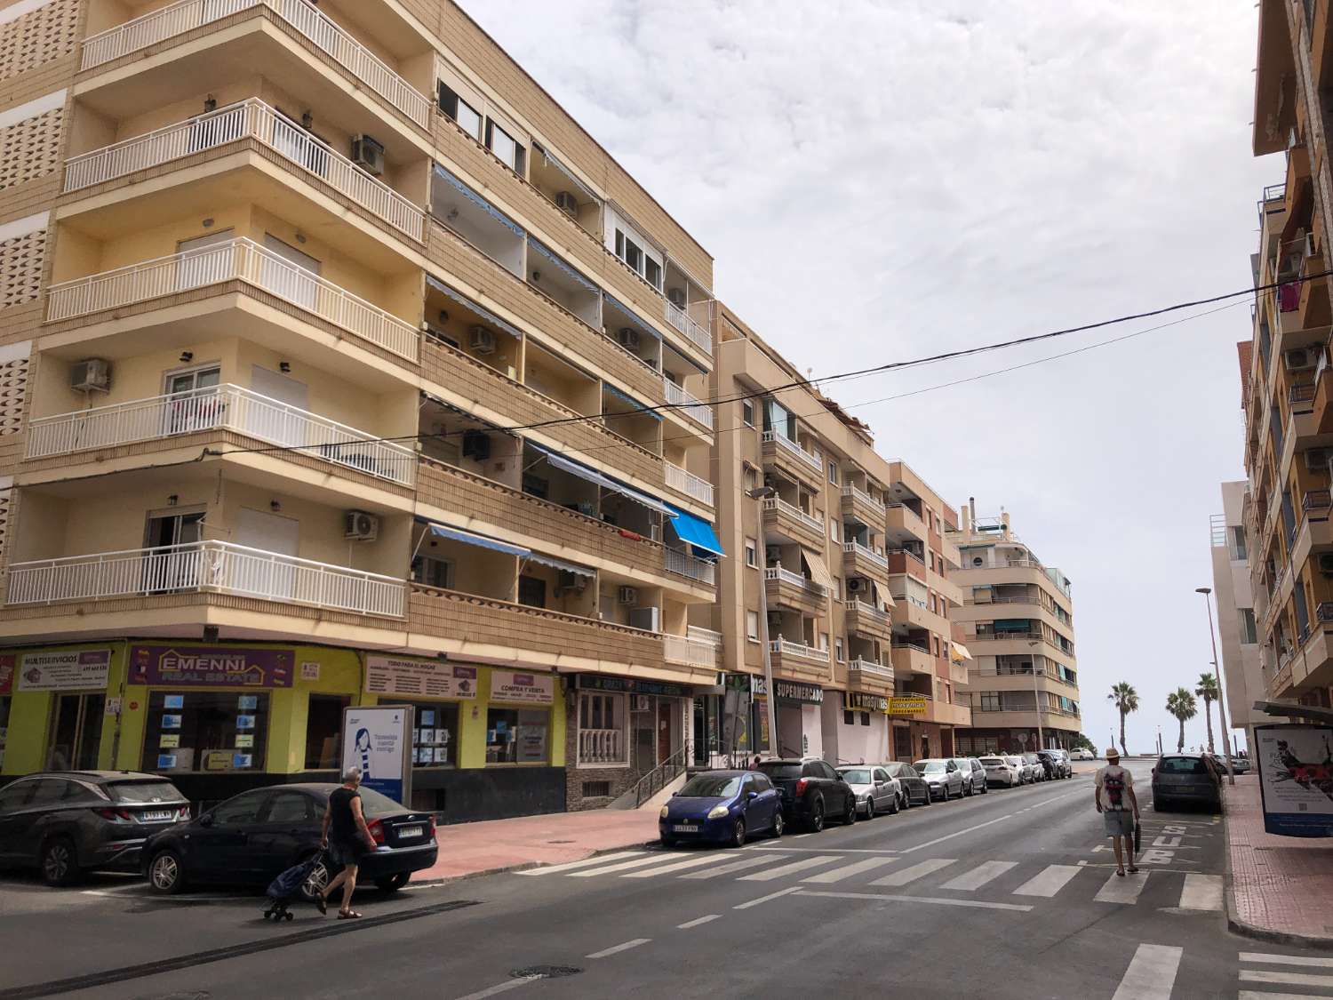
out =
{"type": "Polygon", "coordinates": [[[183,592],[403,617],[403,580],[229,541],[99,552],[9,565],[8,604],[56,604],[183,592]]]}

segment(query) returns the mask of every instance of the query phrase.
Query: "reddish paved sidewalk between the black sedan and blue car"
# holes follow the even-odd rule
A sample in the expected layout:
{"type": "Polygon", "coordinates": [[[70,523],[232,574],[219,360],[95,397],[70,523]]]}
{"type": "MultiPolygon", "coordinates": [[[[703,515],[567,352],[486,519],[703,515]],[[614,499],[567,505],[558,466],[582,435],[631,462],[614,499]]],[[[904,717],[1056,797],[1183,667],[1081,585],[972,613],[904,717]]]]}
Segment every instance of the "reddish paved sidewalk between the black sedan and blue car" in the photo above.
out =
{"type": "Polygon", "coordinates": [[[440,827],[440,860],[416,883],[580,861],[604,851],[657,839],[656,809],[592,809],[440,827]]]}

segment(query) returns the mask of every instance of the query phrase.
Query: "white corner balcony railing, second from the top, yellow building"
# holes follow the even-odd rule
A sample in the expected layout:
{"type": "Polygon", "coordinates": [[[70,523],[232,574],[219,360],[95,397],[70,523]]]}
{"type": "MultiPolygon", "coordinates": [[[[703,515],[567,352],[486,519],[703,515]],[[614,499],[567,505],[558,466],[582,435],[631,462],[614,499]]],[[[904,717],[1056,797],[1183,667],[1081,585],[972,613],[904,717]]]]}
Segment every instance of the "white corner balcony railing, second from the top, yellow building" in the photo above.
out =
{"type": "Polygon", "coordinates": [[[425,212],[417,205],[341,153],[333,152],[285,115],[253,97],[71,157],[65,161],[64,189],[81,191],[244,139],[263,143],[304,173],[319,177],[349,201],[417,243],[424,239],[425,212]]]}

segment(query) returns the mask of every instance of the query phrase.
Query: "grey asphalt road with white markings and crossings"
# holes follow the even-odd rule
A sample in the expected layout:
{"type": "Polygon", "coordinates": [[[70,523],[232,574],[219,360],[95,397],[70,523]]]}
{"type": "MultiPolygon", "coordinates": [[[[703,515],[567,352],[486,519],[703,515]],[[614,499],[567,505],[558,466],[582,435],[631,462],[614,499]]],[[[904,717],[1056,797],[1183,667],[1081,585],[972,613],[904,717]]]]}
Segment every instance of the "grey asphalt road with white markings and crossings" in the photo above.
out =
{"type": "MultiPolygon", "coordinates": [[[[1133,763],[1148,800],[1148,765],[1133,763]]],[[[1145,811],[1114,876],[1081,775],[741,851],[627,851],[359,895],[279,927],[261,900],[0,883],[0,1000],[1333,996],[1333,957],[1237,937],[1222,829],[1145,811]],[[563,975],[552,975],[552,973],[563,975]]]]}

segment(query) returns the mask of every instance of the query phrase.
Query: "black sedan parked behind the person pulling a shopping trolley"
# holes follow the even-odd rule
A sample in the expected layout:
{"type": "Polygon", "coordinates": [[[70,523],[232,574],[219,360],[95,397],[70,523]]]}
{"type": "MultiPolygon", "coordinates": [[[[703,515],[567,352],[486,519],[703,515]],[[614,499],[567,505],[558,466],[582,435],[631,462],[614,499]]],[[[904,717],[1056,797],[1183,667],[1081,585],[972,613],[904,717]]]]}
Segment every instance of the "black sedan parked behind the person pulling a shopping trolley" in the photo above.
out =
{"type": "MultiPolygon", "coordinates": [[[[203,883],[267,885],[320,849],[324,809],[335,788],[292,784],[241,792],[151,837],[143,851],[144,876],[153,889],[168,893],[203,883]]],[[[412,872],[435,864],[435,816],[412,812],[371,788],[361,788],[360,795],[376,847],[361,859],[359,875],[381,889],[400,889],[412,872]]],[[[324,861],[317,864],[301,895],[313,899],[329,873],[324,861]]]]}

